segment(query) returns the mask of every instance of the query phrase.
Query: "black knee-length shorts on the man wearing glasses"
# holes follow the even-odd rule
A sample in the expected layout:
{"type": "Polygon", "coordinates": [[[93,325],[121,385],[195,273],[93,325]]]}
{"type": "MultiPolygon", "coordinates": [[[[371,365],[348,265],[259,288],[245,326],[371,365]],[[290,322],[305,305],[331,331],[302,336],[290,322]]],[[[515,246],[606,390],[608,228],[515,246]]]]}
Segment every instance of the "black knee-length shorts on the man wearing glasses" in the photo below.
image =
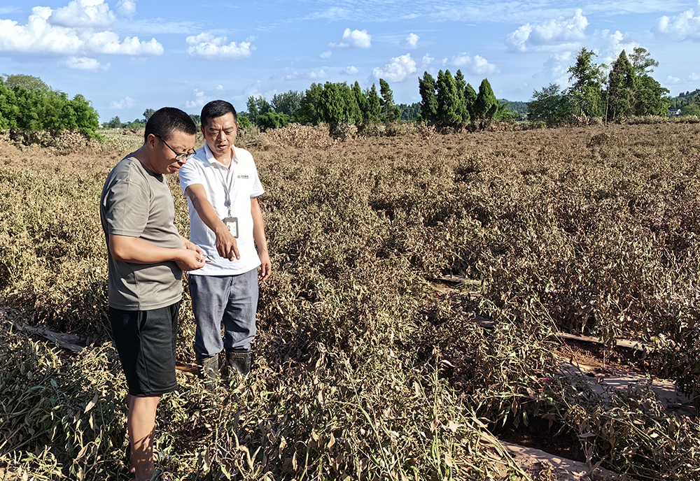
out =
{"type": "Polygon", "coordinates": [[[132,396],[160,396],[177,390],[179,308],[179,302],[153,310],[109,308],[114,343],[132,396]]]}

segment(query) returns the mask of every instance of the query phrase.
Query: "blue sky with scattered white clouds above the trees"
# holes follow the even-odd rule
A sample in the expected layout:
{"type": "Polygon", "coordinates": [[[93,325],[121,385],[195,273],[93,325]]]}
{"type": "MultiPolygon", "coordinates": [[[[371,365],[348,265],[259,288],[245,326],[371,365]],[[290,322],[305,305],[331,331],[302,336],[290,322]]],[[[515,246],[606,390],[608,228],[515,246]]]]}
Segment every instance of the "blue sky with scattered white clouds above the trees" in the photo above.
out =
{"type": "Polygon", "coordinates": [[[0,3],[0,73],[83,94],[102,121],[162,106],[200,113],[213,99],[245,110],[248,96],[326,81],[384,78],[397,103],[412,103],[419,76],[440,69],[526,101],[566,85],[582,47],[609,63],[637,46],[671,94],[700,88],[700,0],[0,3]]]}

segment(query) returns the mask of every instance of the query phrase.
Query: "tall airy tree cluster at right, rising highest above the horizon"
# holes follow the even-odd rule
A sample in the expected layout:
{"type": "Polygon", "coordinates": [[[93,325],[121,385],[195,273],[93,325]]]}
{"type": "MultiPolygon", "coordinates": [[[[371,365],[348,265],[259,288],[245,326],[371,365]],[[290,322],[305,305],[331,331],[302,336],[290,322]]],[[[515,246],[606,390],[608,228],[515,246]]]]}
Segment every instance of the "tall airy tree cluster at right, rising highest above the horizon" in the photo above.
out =
{"type": "Polygon", "coordinates": [[[635,48],[627,57],[624,50],[611,66],[596,64],[592,50],[582,48],[570,66],[568,89],[550,84],[533,93],[528,102],[528,120],[547,124],[575,116],[602,117],[610,121],[629,115],[668,115],[668,89],[649,74],[659,62],[645,48],[635,48]]]}

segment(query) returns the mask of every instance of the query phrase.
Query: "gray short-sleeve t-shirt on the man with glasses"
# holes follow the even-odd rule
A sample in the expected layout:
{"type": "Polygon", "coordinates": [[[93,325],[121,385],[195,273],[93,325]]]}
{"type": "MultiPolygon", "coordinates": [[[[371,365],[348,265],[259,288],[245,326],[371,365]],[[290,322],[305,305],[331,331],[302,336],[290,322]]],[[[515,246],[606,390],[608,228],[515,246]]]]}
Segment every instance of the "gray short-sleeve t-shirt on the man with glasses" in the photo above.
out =
{"type": "MultiPolygon", "coordinates": [[[[158,247],[182,248],[165,175],[149,170],[136,157],[125,157],[107,176],[99,216],[108,254],[108,234],[137,237],[158,247]]],[[[174,261],[132,264],[109,254],[110,307],[153,310],[181,298],[182,271],[174,261]]]]}

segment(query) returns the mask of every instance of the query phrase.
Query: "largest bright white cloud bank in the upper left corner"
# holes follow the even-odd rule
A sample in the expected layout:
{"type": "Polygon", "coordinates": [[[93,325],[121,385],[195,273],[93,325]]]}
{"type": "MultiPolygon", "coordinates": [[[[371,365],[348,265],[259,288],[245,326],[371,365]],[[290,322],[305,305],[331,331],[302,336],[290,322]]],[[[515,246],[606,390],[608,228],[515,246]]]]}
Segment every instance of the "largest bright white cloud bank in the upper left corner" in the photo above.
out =
{"type": "MultiPolygon", "coordinates": [[[[71,5],[83,6],[88,11],[90,6],[100,6],[102,1],[83,0],[83,3],[71,2],[71,5]]],[[[69,8],[64,7],[64,8],[69,8]]],[[[76,7],[77,8],[77,7],[76,7]]],[[[60,9],[59,9],[60,10],[60,9]]],[[[59,10],[55,10],[59,12],[59,10]]],[[[67,18],[61,17],[54,23],[54,10],[49,7],[34,7],[27,24],[20,25],[13,20],[0,20],[0,52],[21,54],[56,54],[71,57],[88,55],[132,55],[135,57],[153,57],[162,55],[163,46],[155,40],[140,41],[138,37],[126,37],[120,41],[118,34],[101,30],[109,15],[92,17],[85,13],[66,27],[67,18]],[[90,20],[92,18],[92,20],[90,20]],[[90,22],[93,24],[90,24],[90,22]]],[[[96,10],[98,13],[102,10],[96,10]]]]}

